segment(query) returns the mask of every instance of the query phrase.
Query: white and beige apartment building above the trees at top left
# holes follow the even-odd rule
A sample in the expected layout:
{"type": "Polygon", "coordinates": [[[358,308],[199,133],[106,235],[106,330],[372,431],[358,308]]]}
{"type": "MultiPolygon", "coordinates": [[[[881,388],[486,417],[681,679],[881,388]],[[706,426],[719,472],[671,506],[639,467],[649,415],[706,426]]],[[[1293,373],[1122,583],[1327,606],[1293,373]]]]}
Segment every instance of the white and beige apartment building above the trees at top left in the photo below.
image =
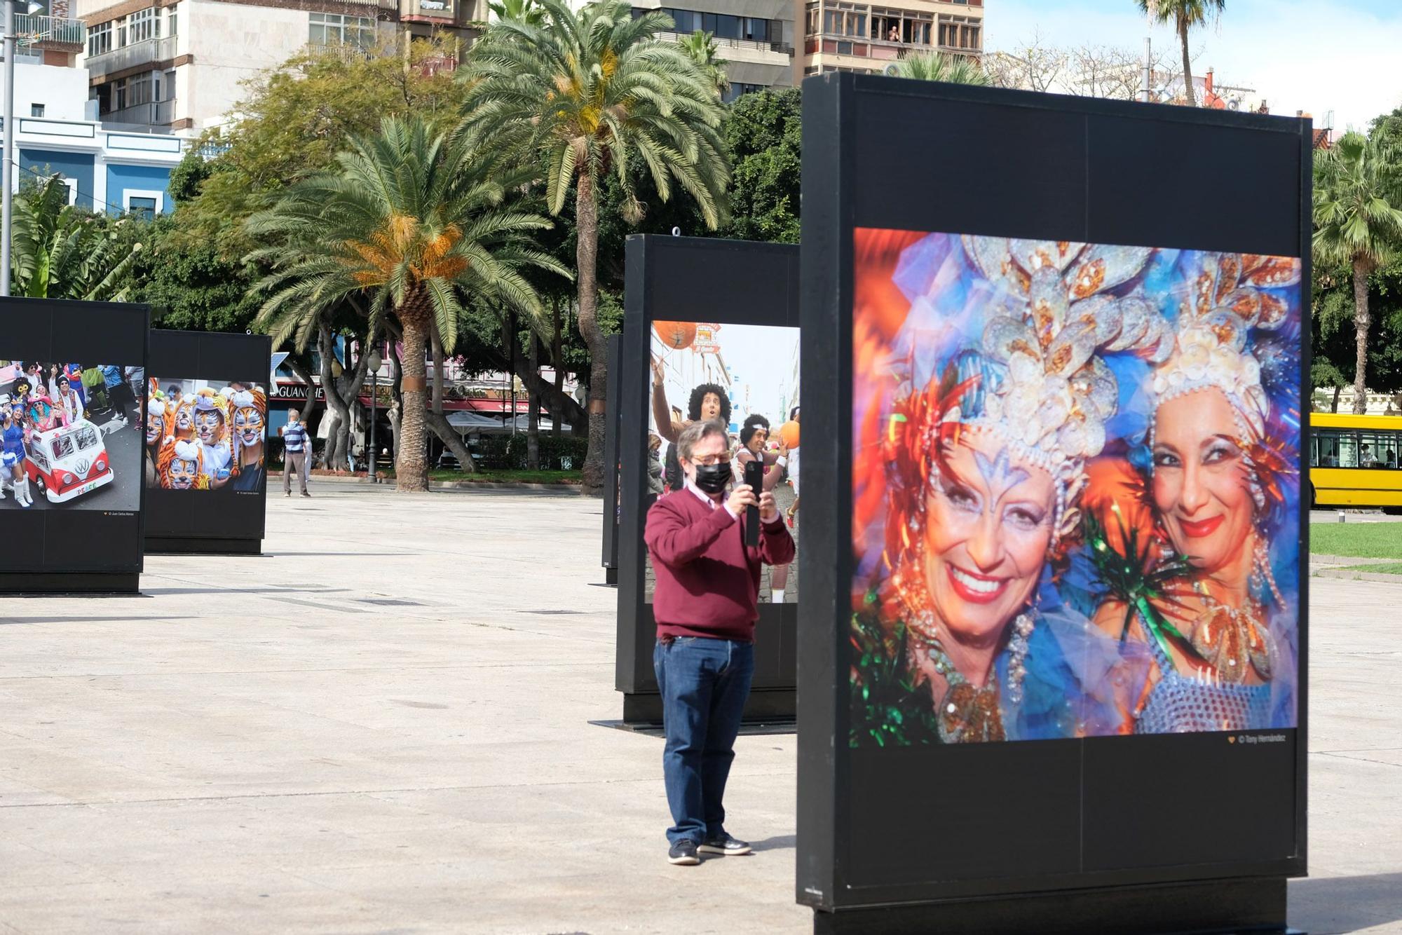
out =
{"type": "Polygon", "coordinates": [[[471,39],[485,0],[76,0],[104,123],[202,130],[243,83],[304,49],[356,55],[404,36],[471,39]]]}

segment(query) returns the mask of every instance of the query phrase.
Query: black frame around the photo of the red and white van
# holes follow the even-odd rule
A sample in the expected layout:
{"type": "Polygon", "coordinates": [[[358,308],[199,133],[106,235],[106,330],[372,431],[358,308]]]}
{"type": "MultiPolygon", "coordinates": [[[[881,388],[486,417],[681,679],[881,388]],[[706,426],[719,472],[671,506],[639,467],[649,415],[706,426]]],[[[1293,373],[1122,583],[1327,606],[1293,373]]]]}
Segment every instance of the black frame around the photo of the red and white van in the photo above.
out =
{"type": "MultiPolygon", "coordinates": [[[[80,360],[146,366],[150,310],[135,303],[0,299],[6,356],[14,360],[80,360]]],[[[137,401],[144,407],[144,394],[137,401]]],[[[140,471],[140,464],[137,464],[140,471]]],[[[6,510],[8,542],[25,544],[3,557],[0,593],[136,593],[143,568],[143,484],[132,512],[6,510]],[[95,544],[70,548],[64,544],[95,544]],[[41,558],[34,561],[34,544],[41,558]]],[[[31,491],[34,488],[31,486],[31,491]]]]}

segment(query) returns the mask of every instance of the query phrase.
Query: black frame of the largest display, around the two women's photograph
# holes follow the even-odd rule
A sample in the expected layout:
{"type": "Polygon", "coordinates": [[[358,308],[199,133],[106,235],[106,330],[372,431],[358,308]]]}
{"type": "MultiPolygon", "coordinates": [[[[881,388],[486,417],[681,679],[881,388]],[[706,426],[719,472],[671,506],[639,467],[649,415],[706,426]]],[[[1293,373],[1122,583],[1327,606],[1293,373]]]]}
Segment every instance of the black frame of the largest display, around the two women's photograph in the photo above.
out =
{"type": "MultiPolygon", "coordinates": [[[[861,806],[854,802],[873,792],[852,784],[858,758],[872,754],[847,746],[852,231],[879,227],[1300,257],[1304,266],[1301,341],[1305,345],[1300,398],[1308,400],[1309,121],[827,74],[803,83],[803,133],[801,343],[809,502],[805,505],[805,550],[799,555],[803,580],[799,613],[810,627],[799,646],[798,901],[819,910],[822,931],[838,931],[834,925],[844,917],[852,921],[848,931],[868,931],[864,925],[873,918],[890,922],[890,928],[880,931],[892,932],[907,931],[903,925],[913,924],[913,918],[923,920],[931,931],[937,925],[949,932],[1012,931],[987,925],[1002,911],[997,907],[1007,907],[1011,897],[1056,893],[1059,906],[1085,900],[1088,911],[1094,911],[1096,900],[1108,904],[1106,892],[1140,893],[1152,906],[1155,899],[1165,904],[1173,899],[1169,893],[1176,890],[1168,885],[1225,886],[1228,880],[1245,880],[1241,900],[1224,899],[1216,908],[1214,924],[1193,922],[1190,931],[1230,931],[1237,925],[1253,931],[1283,929],[1283,879],[1307,872],[1308,498],[1301,498],[1300,505],[1298,714],[1297,726],[1283,732],[1290,735],[1290,747],[1281,751],[1284,763],[1294,768],[1294,781],[1279,796],[1280,807],[1273,812],[1293,841],[1293,849],[1269,859],[1209,856],[1172,866],[1119,864],[1087,871],[1078,864],[1074,872],[1042,868],[1022,873],[1002,866],[997,872],[980,871],[956,879],[920,872],[920,866],[928,868],[934,862],[931,855],[949,841],[938,833],[913,837],[906,827],[913,821],[911,809],[928,812],[938,798],[892,802],[900,796],[893,788],[885,788],[880,798],[886,802],[861,806]],[[935,144],[945,140],[948,144],[935,144]],[[1106,144],[1108,140],[1113,144],[1106,144]],[[1172,161],[1185,151],[1195,151],[1197,158],[1216,165],[1218,150],[1231,150],[1227,160],[1249,172],[1227,177],[1172,161]],[[1138,185],[1127,188],[1127,178],[1138,179],[1138,185]],[[864,809],[861,821],[855,817],[858,809],[864,809]],[[865,852],[854,842],[859,834],[866,835],[865,852]],[[904,880],[875,882],[861,861],[876,852],[878,845],[894,848],[920,866],[904,880]],[[1277,887],[1274,882],[1281,885],[1277,887]],[[1155,892],[1159,896],[1155,897],[1155,892]],[[1276,896],[1269,896],[1272,893],[1276,896]],[[1265,915],[1262,899],[1269,904],[1265,915]],[[987,911],[969,915],[965,910],[972,900],[986,900],[987,911]],[[916,917],[906,914],[904,924],[896,911],[886,917],[871,915],[880,907],[911,906],[924,906],[928,911],[916,917]],[[865,921],[858,922],[858,918],[865,921]]],[[[1301,429],[1301,446],[1307,450],[1308,425],[1301,429]]],[[[1200,737],[1224,739],[1224,735],[1186,737],[1189,743],[1200,743],[1200,737]]],[[[1108,758],[1122,771],[1133,770],[1136,760],[1164,761],[1161,754],[1183,739],[1021,742],[990,744],[1001,750],[963,747],[956,753],[990,764],[997,761],[1000,768],[1014,771],[1016,784],[1033,800],[1040,784],[1057,782],[1057,770],[1070,771],[1063,778],[1074,775],[1084,799],[1087,757],[1108,758]]],[[[893,760],[910,761],[908,770],[896,767],[897,772],[907,772],[907,788],[911,777],[920,775],[932,788],[962,785],[981,791],[980,777],[995,775],[977,770],[959,775],[967,772],[959,767],[970,760],[955,763],[928,754],[939,750],[951,749],[879,753],[894,753],[893,760]],[[944,772],[931,768],[937,760],[944,772]]],[[[896,779],[899,785],[900,777],[896,779]]],[[[944,813],[956,823],[962,817],[959,813],[972,805],[977,803],[956,799],[944,813]]],[[[1152,807],[1159,805],[1155,800],[1152,807]]],[[[1082,800],[1050,799],[1044,806],[1075,809],[1077,814],[1085,807],[1082,800]]],[[[1151,806],[1145,803],[1145,807],[1151,806]]],[[[1166,814],[1169,823],[1190,819],[1180,810],[1169,809],[1166,814]]],[[[1082,823],[1084,817],[1077,827],[1084,828],[1082,823]]],[[[998,831],[990,827],[988,835],[1004,848],[1007,864],[1015,865],[1016,848],[1011,841],[998,841],[998,831]]],[[[1050,824],[1047,831],[1052,833],[1050,824]]],[[[1084,833],[1078,834],[1073,842],[1075,861],[1082,859],[1084,838],[1084,833]]],[[[956,847],[966,842],[960,840],[956,847]]],[[[1279,840],[1266,847],[1277,844],[1279,840]]],[[[1011,922],[1012,915],[1005,918],[1011,922]]],[[[1141,922],[1122,917],[1115,931],[1159,931],[1154,924],[1148,918],[1141,922]]]]}

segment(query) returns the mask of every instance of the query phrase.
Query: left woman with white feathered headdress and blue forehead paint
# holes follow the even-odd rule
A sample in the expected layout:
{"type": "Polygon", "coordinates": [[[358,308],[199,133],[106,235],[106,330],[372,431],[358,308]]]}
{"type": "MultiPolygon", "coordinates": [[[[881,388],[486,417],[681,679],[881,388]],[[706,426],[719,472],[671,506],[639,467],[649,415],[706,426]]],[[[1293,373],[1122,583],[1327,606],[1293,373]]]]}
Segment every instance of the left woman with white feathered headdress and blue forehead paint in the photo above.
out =
{"type": "Polygon", "coordinates": [[[1117,728],[1117,657],[1042,589],[1080,534],[1112,362],[1166,356],[1136,294],[1152,254],[946,234],[906,248],[910,310],[854,394],[871,439],[854,468],[854,746],[1117,728]]]}

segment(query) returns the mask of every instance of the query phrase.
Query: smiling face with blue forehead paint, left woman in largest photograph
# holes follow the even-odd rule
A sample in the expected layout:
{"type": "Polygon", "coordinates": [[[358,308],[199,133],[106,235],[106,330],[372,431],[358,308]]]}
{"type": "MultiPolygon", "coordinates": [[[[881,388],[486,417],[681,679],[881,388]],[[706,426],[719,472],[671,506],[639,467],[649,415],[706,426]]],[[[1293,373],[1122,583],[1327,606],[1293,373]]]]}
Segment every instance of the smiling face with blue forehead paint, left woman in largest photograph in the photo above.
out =
{"type": "Polygon", "coordinates": [[[956,639],[998,634],[1026,606],[1052,545],[1056,485],[986,433],[946,449],[925,495],[925,585],[956,639]]]}

